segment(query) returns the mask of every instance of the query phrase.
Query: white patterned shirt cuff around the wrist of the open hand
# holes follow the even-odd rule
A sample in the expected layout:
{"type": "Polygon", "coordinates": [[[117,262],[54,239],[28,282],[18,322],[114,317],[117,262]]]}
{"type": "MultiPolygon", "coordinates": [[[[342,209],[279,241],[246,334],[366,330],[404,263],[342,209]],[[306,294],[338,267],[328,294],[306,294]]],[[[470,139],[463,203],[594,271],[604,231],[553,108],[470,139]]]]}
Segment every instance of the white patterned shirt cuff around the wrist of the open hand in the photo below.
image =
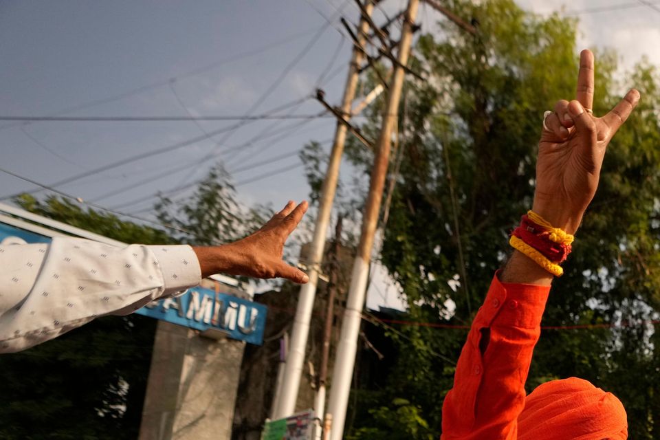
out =
{"type": "Polygon", "coordinates": [[[163,274],[163,296],[195,287],[201,282],[197,254],[189,245],[146,246],[163,274]]]}

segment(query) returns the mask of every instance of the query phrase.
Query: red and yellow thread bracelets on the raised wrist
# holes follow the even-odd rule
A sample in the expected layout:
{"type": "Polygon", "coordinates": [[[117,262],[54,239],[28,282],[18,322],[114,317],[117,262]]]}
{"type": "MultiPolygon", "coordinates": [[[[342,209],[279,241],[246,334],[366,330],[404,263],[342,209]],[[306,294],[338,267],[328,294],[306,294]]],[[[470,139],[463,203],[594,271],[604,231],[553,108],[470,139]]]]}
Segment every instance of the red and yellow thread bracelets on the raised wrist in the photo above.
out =
{"type": "Polygon", "coordinates": [[[509,244],[554,276],[562,276],[560,266],[571,253],[573,235],[553,226],[536,212],[528,211],[511,232],[509,244]]]}

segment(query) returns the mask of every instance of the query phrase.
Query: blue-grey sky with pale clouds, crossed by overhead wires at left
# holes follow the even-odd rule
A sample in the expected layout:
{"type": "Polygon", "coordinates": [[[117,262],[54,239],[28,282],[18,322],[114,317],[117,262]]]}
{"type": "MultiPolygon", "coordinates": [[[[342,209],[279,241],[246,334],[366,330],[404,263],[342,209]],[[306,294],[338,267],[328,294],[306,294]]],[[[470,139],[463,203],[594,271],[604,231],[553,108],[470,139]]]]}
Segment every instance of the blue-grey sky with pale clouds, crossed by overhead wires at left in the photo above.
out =
{"type": "MultiPolygon", "coordinates": [[[[660,64],[660,11],[626,0],[518,3],[541,14],[562,7],[570,12],[615,6],[618,9],[609,12],[592,10],[579,15],[580,45],[614,47],[621,54],[622,69],[644,54],[660,64]],[[619,8],[623,4],[628,6],[619,8]]],[[[404,0],[383,2],[387,14],[404,5],[404,0]]],[[[311,96],[319,83],[329,102],[337,104],[351,50],[338,31],[338,20],[327,25],[325,19],[338,9],[347,19],[357,21],[352,0],[3,0],[0,115],[184,116],[188,112],[243,115],[250,111],[259,115],[311,96]],[[66,111],[74,107],[79,108],[66,111]]],[[[383,21],[384,15],[377,11],[375,18],[383,21]]],[[[433,32],[433,23],[440,18],[427,6],[420,8],[423,31],[433,32]]],[[[318,102],[307,99],[281,114],[311,115],[321,110],[318,102]]],[[[53,184],[234,123],[0,121],[0,167],[53,184]]],[[[300,164],[296,151],[311,139],[331,139],[334,126],[331,118],[304,124],[296,120],[250,122],[58,189],[102,206],[122,206],[203,177],[212,162],[200,161],[210,155],[221,159],[233,173],[240,184],[239,197],[246,204],[281,206],[288,199],[303,199],[309,192],[302,168],[296,167],[300,164]],[[264,140],[250,142],[269,133],[264,140]],[[264,161],[269,163],[257,166],[264,161]],[[176,168],[183,170],[176,173],[176,168]],[[244,170],[236,172],[241,168],[244,170]],[[267,176],[278,170],[285,171],[267,176]],[[137,185],[145,180],[147,184],[137,185]],[[241,184],[250,180],[254,181],[241,184]],[[122,188],[126,190],[100,198],[122,188]]],[[[0,195],[32,188],[0,173],[0,195]]],[[[148,217],[144,209],[149,206],[151,201],[146,200],[121,209],[148,217]]],[[[377,286],[380,294],[371,296],[371,305],[392,305],[395,291],[387,287],[384,276],[376,278],[383,281],[377,286]]]]}

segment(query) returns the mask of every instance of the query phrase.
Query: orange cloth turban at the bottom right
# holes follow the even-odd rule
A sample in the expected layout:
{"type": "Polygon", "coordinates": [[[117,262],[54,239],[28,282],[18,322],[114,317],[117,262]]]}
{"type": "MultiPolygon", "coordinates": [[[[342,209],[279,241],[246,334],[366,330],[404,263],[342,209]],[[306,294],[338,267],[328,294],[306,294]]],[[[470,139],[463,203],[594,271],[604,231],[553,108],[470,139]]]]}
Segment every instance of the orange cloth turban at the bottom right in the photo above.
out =
{"type": "Polygon", "coordinates": [[[619,399],[577,377],[538,386],[518,417],[518,440],[627,438],[626,410],[619,399]]]}

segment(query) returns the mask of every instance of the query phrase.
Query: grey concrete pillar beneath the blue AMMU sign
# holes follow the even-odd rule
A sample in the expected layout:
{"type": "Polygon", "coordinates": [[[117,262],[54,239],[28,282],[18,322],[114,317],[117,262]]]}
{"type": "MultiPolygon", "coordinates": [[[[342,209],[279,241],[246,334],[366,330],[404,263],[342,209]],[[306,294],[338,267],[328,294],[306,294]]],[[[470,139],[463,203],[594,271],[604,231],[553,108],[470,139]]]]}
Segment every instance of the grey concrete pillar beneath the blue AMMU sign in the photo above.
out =
{"type": "Polygon", "coordinates": [[[140,440],[230,440],[243,349],[159,321],[140,440]]]}

